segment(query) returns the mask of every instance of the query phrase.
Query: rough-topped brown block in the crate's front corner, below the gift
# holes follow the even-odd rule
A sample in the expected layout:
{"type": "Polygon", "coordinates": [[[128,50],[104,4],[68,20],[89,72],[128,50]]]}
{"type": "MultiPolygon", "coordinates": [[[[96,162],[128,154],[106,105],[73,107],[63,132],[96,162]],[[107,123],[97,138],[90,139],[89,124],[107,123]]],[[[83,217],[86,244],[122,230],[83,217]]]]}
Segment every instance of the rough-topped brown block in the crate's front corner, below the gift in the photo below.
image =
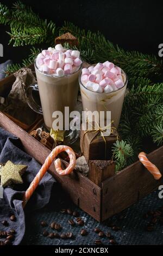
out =
{"type": "Polygon", "coordinates": [[[99,187],[103,180],[115,175],[114,161],[90,160],[89,168],[89,179],[99,187]]]}

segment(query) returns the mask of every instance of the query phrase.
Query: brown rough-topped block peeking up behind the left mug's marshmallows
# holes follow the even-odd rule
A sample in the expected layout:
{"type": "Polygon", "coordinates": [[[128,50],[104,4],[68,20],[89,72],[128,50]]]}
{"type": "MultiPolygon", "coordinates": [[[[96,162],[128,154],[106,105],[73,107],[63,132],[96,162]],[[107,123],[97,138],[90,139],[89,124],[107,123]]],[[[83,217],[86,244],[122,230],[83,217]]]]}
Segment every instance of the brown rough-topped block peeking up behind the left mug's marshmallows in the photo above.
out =
{"type": "Polygon", "coordinates": [[[55,38],[56,45],[58,45],[58,44],[64,45],[65,42],[67,42],[68,44],[70,44],[72,46],[79,45],[78,39],[74,35],[70,34],[69,32],[62,34],[62,35],[58,36],[57,38],[55,38]]]}

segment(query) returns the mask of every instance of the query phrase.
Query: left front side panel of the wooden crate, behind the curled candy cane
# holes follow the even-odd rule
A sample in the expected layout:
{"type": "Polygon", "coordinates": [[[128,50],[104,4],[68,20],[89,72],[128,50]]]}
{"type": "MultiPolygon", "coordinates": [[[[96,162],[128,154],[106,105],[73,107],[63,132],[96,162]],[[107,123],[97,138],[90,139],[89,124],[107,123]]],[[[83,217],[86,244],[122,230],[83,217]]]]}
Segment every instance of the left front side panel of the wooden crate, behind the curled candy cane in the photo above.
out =
{"type": "MultiPolygon", "coordinates": [[[[22,130],[1,112],[0,126],[21,139],[27,154],[34,157],[35,160],[41,164],[45,162],[46,157],[51,151],[37,142],[36,139],[22,130]]],[[[67,176],[59,175],[55,171],[54,163],[49,168],[49,173],[61,184],[64,190],[70,195],[72,201],[78,205],[79,208],[86,211],[97,221],[101,221],[101,188],[78,172],[73,172],[67,176]]]]}

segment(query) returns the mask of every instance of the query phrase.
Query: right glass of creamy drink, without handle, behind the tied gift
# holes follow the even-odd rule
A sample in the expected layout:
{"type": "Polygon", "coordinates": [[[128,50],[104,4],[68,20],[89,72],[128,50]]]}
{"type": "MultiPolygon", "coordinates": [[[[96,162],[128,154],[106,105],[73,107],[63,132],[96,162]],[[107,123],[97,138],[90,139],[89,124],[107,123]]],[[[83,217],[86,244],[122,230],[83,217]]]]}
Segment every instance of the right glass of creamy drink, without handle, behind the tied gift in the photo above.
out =
{"type": "MultiPolygon", "coordinates": [[[[79,84],[84,111],[97,111],[99,114],[100,111],[104,111],[105,119],[106,111],[110,111],[111,120],[114,121],[114,126],[117,128],[120,123],[124,95],[128,82],[127,75],[122,70],[124,86],[110,93],[98,93],[87,89],[81,81],[81,76],[82,74],[79,76],[79,84]]],[[[89,120],[89,114],[87,115],[87,118],[89,120]]]]}

